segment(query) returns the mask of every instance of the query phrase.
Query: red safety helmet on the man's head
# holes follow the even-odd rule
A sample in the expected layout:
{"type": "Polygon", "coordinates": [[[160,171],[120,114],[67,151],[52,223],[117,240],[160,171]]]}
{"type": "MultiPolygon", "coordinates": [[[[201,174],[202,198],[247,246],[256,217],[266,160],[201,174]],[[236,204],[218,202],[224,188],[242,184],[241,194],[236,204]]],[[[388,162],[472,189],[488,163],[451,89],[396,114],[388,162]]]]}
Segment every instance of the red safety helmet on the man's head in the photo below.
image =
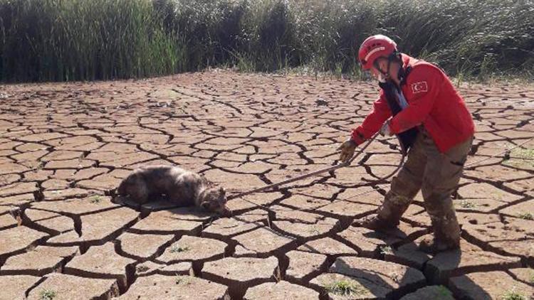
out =
{"type": "Polygon", "coordinates": [[[387,58],[394,52],[397,52],[397,43],[387,36],[377,34],[366,38],[360,45],[358,60],[360,60],[364,70],[370,70],[377,58],[387,58]]]}

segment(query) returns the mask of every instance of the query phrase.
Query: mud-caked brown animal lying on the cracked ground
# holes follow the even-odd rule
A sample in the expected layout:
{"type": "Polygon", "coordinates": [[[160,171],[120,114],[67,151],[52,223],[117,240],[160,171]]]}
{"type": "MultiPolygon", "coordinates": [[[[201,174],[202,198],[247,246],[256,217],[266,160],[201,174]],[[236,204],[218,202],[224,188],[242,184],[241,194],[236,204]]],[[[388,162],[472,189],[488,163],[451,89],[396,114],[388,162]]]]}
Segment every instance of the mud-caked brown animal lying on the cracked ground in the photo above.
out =
{"type": "Polygon", "coordinates": [[[142,166],[122,180],[118,195],[129,195],[135,203],[147,203],[150,198],[166,195],[180,205],[195,205],[225,217],[231,215],[226,208],[226,191],[217,188],[204,176],[177,166],[142,166]]]}

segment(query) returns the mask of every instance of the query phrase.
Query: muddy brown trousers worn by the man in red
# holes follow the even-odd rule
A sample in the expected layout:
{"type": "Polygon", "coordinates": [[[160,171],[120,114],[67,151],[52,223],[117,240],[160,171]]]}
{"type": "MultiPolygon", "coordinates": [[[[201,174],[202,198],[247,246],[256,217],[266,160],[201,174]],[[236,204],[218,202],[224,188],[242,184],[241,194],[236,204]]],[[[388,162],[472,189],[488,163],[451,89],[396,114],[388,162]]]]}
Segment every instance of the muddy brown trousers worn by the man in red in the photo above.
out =
{"type": "Polygon", "coordinates": [[[436,240],[458,245],[460,227],[451,199],[460,181],[473,138],[441,153],[424,129],[409,150],[407,161],[377,211],[377,217],[389,224],[399,224],[415,195],[422,191],[436,240]]]}

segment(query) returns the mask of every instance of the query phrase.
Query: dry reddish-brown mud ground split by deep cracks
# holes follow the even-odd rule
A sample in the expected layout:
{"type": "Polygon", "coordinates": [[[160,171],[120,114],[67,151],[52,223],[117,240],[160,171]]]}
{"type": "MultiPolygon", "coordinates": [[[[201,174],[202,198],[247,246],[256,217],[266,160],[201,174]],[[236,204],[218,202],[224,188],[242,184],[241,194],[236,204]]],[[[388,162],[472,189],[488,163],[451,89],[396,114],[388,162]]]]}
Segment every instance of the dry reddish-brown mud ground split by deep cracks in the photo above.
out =
{"type": "Polygon", "coordinates": [[[420,195],[399,230],[352,226],[394,171],[394,139],[335,173],[229,201],[233,218],[109,191],[143,164],[231,192],[334,164],[371,83],[212,71],[0,90],[0,299],[501,299],[534,286],[534,87],[462,87],[478,133],[454,202],[461,252],[430,257],[420,195]],[[20,208],[21,226],[11,216],[20,208]],[[325,293],[340,281],[352,296],[325,293]],[[357,282],[357,284],[355,283],[357,282]],[[140,297],[140,298],[139,298],[140,297]]]}

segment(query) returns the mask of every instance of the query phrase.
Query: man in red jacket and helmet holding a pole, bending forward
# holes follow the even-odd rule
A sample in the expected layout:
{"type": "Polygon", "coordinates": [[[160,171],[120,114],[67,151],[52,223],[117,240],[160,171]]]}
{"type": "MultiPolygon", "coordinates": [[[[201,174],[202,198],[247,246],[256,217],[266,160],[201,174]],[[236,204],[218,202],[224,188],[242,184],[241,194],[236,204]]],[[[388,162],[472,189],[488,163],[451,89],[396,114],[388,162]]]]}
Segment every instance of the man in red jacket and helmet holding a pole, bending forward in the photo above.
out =
{"type": "Polygon", "coordinates": [[[367,38],[358,57],[382,89],[372,112],[340,146],[340,159],[350,159],[356,146],[377,132],[396,134],[402,149],[409,152],[377,214],[357,220],[356,225],[374,230],[396,227],[421,190],[434,239],[419,247],[433,253],[458,248],[460,227],[451,193],[458,186],[474,134],[464,100],[441,69],[399,53],[387,36],[367,38]]]}

